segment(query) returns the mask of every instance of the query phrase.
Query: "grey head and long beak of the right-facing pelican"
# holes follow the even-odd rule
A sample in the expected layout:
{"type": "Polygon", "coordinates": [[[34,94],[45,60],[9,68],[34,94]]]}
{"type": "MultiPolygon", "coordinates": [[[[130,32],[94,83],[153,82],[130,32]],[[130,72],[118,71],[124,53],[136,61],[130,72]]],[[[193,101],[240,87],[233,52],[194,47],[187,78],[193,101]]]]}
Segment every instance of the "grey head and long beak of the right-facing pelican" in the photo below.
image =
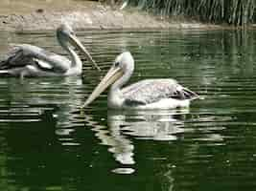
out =
{"type": "Polygon", "coordinates": [[[92,59],[91,54],[85,49],[85,47],[83,47],[83,45],[81,44],[81,41],[78,39],[78,37],[76,36],[75,32],[73,31],[73,29],[71,28],[70,25],[68,24],[61,24],[58,29],[57,29],[57,38],[59,41],[59,44],[64,47],[67,48],[67,42],[69,42],[72,46],[76,47],[77,49],[79,49],[81,51],[81,53],[83,53],[86,58],[92,62],[92,64],[99,70],[101,71],[101,69],[99,68],[99,66],[96,64],[96,62],[92,59]]]}

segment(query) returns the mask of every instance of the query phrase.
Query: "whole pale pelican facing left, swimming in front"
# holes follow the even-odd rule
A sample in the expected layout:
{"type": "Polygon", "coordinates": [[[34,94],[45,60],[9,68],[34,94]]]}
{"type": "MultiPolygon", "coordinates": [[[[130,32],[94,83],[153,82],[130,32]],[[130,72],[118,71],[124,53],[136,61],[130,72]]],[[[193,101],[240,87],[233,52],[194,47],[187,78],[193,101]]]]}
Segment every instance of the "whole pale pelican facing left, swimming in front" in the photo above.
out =
{"type": "Polygon", "coordinates": [[[112,109],[175,109],[188,107],[199,96],[179,85],[175,79],[145,79],[122,88],[134,69],[134,60],[129,52],[119,54],[113,66],[100,84],[86,99],[81,108],[90,104],[111,85],[107,106],[112,109]]]}

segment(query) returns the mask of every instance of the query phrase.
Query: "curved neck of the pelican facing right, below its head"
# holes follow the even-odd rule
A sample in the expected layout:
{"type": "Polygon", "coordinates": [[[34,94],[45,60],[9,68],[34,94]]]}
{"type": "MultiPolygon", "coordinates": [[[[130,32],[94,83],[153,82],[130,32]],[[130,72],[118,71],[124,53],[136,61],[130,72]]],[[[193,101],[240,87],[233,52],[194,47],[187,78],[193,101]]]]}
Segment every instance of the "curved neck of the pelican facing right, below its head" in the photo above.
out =
{"type": "Polygon", "coordinates": [[[70,44],[67,41],[64,41],[63,38],[60,37],[60,35],[58,35],[58,43],[70,55],[71,67],[81,70],[82,62],[80,56],[72,49],[70,44]]]}

